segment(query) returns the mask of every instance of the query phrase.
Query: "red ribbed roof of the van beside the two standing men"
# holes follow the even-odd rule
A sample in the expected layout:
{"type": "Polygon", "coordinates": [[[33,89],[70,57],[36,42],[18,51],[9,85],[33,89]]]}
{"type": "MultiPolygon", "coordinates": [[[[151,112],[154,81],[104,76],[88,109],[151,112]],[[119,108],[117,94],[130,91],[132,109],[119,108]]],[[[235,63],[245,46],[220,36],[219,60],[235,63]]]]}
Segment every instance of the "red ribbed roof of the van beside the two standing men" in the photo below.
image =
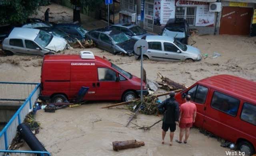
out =
{"type": "Polygon", "coordinates": [[[198,83],[215,88],[224,94],[229,93],[235,98],[250,100],[244,102],[254,102],[256,105],[256,82],[232,75],[216,75],[202,79],[198,83]]]}

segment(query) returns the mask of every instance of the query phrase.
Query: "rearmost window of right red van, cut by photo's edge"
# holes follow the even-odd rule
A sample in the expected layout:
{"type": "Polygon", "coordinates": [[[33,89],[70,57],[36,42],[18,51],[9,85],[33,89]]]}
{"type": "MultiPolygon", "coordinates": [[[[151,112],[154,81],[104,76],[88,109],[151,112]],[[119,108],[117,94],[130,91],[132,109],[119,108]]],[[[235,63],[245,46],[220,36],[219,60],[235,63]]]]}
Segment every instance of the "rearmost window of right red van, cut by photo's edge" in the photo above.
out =
{"type": "Polygon", "coordinates": [[[244,103],[241,113],[241,119],[248,123],[256,125],[256,106],[250,103],[244,103]]]}

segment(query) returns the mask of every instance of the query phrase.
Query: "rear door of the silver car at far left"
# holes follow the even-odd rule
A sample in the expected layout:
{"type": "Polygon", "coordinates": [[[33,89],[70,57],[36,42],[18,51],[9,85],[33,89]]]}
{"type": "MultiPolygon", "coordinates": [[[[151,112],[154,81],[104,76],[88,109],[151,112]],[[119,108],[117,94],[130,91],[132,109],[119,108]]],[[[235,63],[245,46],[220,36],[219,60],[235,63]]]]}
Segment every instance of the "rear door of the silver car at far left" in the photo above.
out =
{"type": "Polygon", "coordinates": [[[10,39],[9,40],[9,49],[13,53],[18,54],[27,54],[26,48],[24,47],[24,43],[22,39],[10,39]]]}

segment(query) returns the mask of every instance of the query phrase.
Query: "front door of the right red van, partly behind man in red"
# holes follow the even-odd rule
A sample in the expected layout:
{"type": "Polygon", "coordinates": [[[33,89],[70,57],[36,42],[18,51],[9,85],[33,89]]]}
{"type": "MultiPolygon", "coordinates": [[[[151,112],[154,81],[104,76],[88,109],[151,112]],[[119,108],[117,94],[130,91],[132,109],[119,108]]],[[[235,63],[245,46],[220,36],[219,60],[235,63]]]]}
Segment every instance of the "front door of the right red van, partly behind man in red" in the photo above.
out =
{"type": "Polygon", "coordinates": [[[203,127],[209,90],[206,86],[196,84],[186,92],[191,96],[191,102],[196,105],[196,122],[194,123],[196,127],[203,127]]]}

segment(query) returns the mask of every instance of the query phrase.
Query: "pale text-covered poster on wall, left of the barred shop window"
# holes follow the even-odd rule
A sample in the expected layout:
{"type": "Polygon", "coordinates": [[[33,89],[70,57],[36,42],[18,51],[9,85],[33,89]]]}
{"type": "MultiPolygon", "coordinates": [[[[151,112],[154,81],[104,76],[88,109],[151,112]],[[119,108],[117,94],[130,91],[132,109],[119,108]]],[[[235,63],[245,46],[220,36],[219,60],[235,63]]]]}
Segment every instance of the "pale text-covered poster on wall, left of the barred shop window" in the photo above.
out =
{"type": "Polygon", "coordinates": [[[175,0],[162,0],[160,23],[166,24],[170,18],[175,18],[175,0]]]}

